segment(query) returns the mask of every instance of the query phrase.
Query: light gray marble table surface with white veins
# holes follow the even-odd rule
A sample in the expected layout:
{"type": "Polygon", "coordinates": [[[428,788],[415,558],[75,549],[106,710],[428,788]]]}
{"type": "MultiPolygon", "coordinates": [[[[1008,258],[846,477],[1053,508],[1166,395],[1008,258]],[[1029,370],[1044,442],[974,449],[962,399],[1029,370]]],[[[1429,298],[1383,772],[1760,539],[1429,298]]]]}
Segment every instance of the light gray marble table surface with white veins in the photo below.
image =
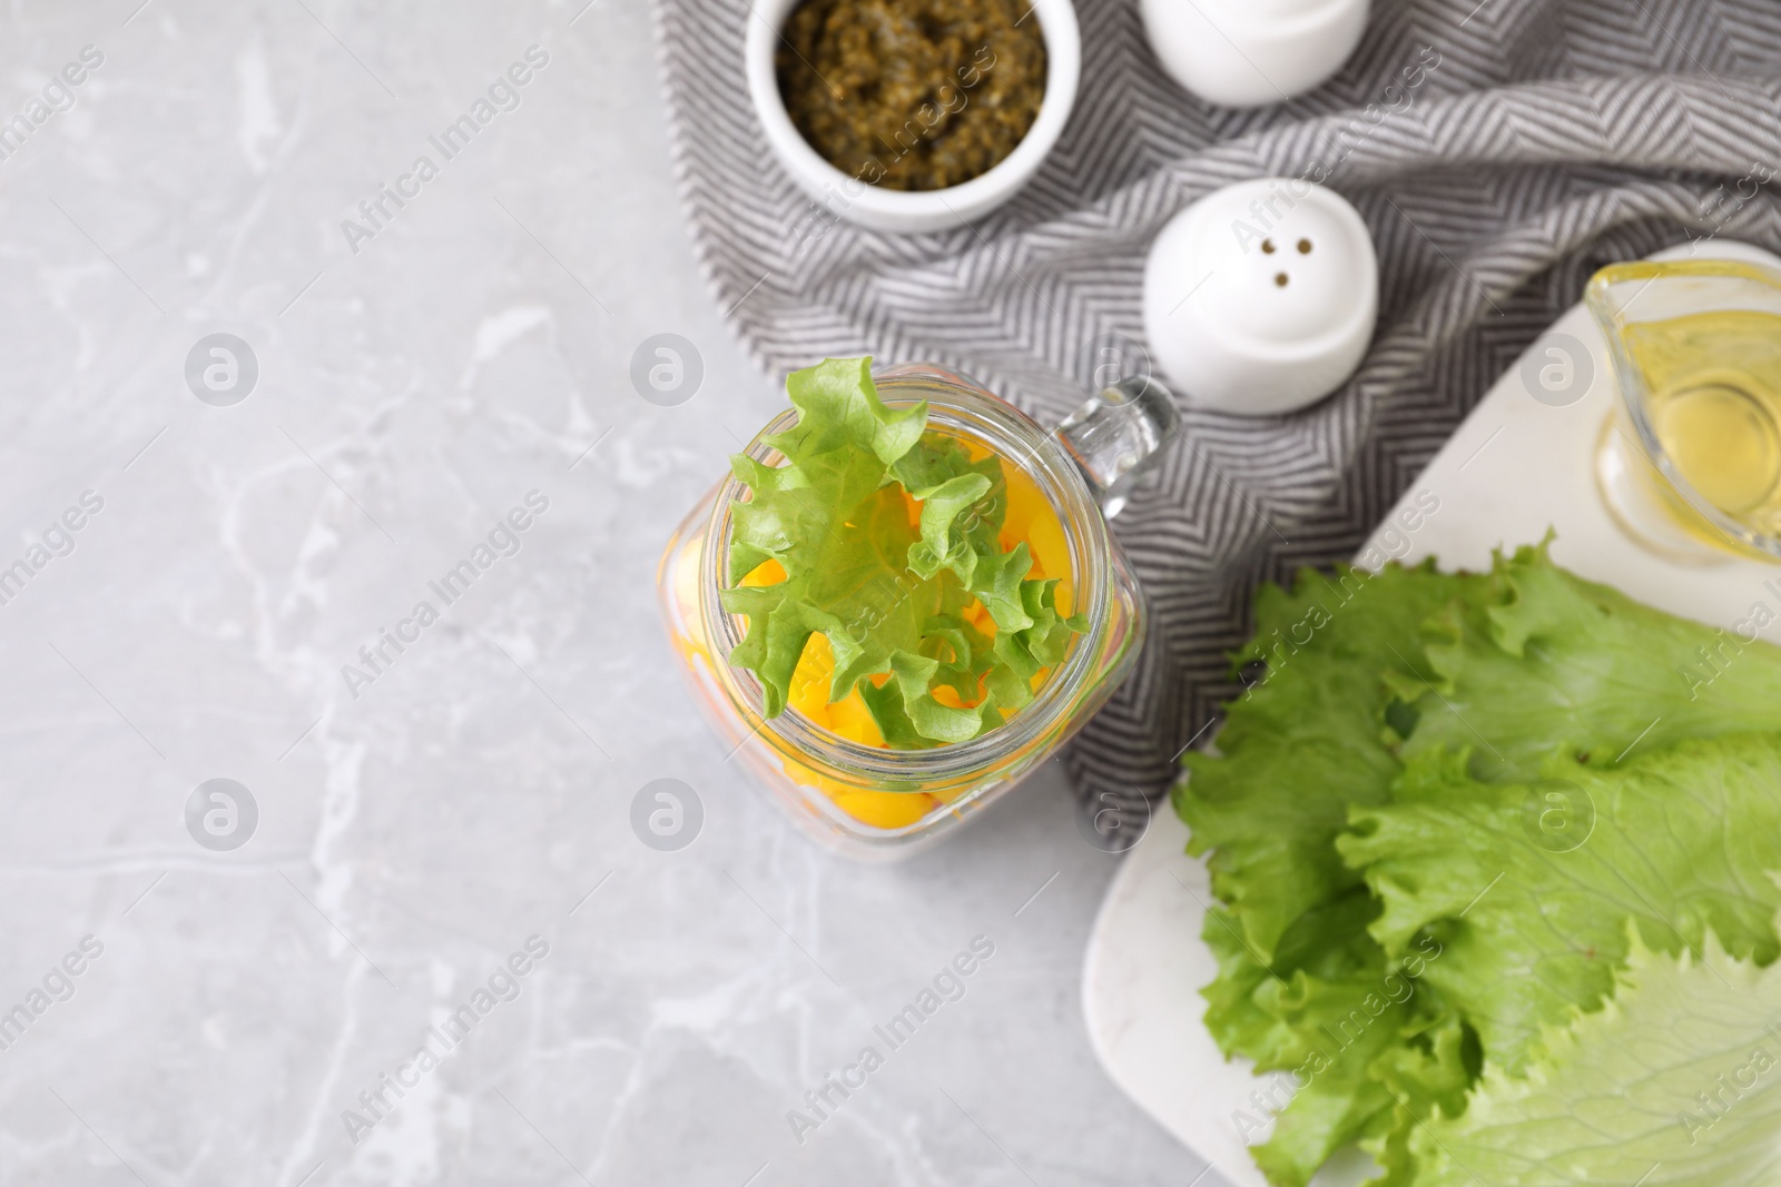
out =
{"type": "Polygon", "coordinates": [[[698,278],[641,0],[18,0],[0,121],[0,1183],[1200,1175],[1088,1050],[1117,860],[1054,767],[858,867],[682,685],[663,541],[782,397],[698,278]],[[630,381],[661,333],[677,406],[630,381]],[[679,852],[630,828],[657,778],[679,852]]]}

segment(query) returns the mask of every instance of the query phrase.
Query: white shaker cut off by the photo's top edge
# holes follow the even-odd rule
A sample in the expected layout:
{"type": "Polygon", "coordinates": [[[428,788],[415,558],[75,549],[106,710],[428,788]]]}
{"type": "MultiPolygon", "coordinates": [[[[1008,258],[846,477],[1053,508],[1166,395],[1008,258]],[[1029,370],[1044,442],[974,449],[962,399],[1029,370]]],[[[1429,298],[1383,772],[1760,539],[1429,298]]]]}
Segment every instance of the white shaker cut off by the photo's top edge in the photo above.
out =
{"type": "Polygon", "coordinates": [[[1163,69],[1211,103],[1259,107],[1341,69],[1366,28],[1368,0],[1142,0],[1163,69]]]}

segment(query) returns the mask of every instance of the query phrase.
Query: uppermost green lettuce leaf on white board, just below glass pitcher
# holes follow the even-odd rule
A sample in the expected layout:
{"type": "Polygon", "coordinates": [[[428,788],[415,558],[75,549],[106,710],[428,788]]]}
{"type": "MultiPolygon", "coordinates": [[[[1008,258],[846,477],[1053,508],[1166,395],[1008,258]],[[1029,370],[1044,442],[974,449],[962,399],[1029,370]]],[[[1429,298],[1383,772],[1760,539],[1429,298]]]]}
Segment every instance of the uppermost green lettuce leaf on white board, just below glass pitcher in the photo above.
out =
{"type": "Polygon", "coordinates": [[[1551,562],[1549,539],[1496,557],[1489,594],[1427,630],[1432,689],[1398,683],[1418,753],[1473,747],[1484,779],[1535,778],[1571,746],[1592,765],[1678,739],[1781,730],[1774,609],[1751,589],[1744,637],[1655,610],[1551,562]]]}

